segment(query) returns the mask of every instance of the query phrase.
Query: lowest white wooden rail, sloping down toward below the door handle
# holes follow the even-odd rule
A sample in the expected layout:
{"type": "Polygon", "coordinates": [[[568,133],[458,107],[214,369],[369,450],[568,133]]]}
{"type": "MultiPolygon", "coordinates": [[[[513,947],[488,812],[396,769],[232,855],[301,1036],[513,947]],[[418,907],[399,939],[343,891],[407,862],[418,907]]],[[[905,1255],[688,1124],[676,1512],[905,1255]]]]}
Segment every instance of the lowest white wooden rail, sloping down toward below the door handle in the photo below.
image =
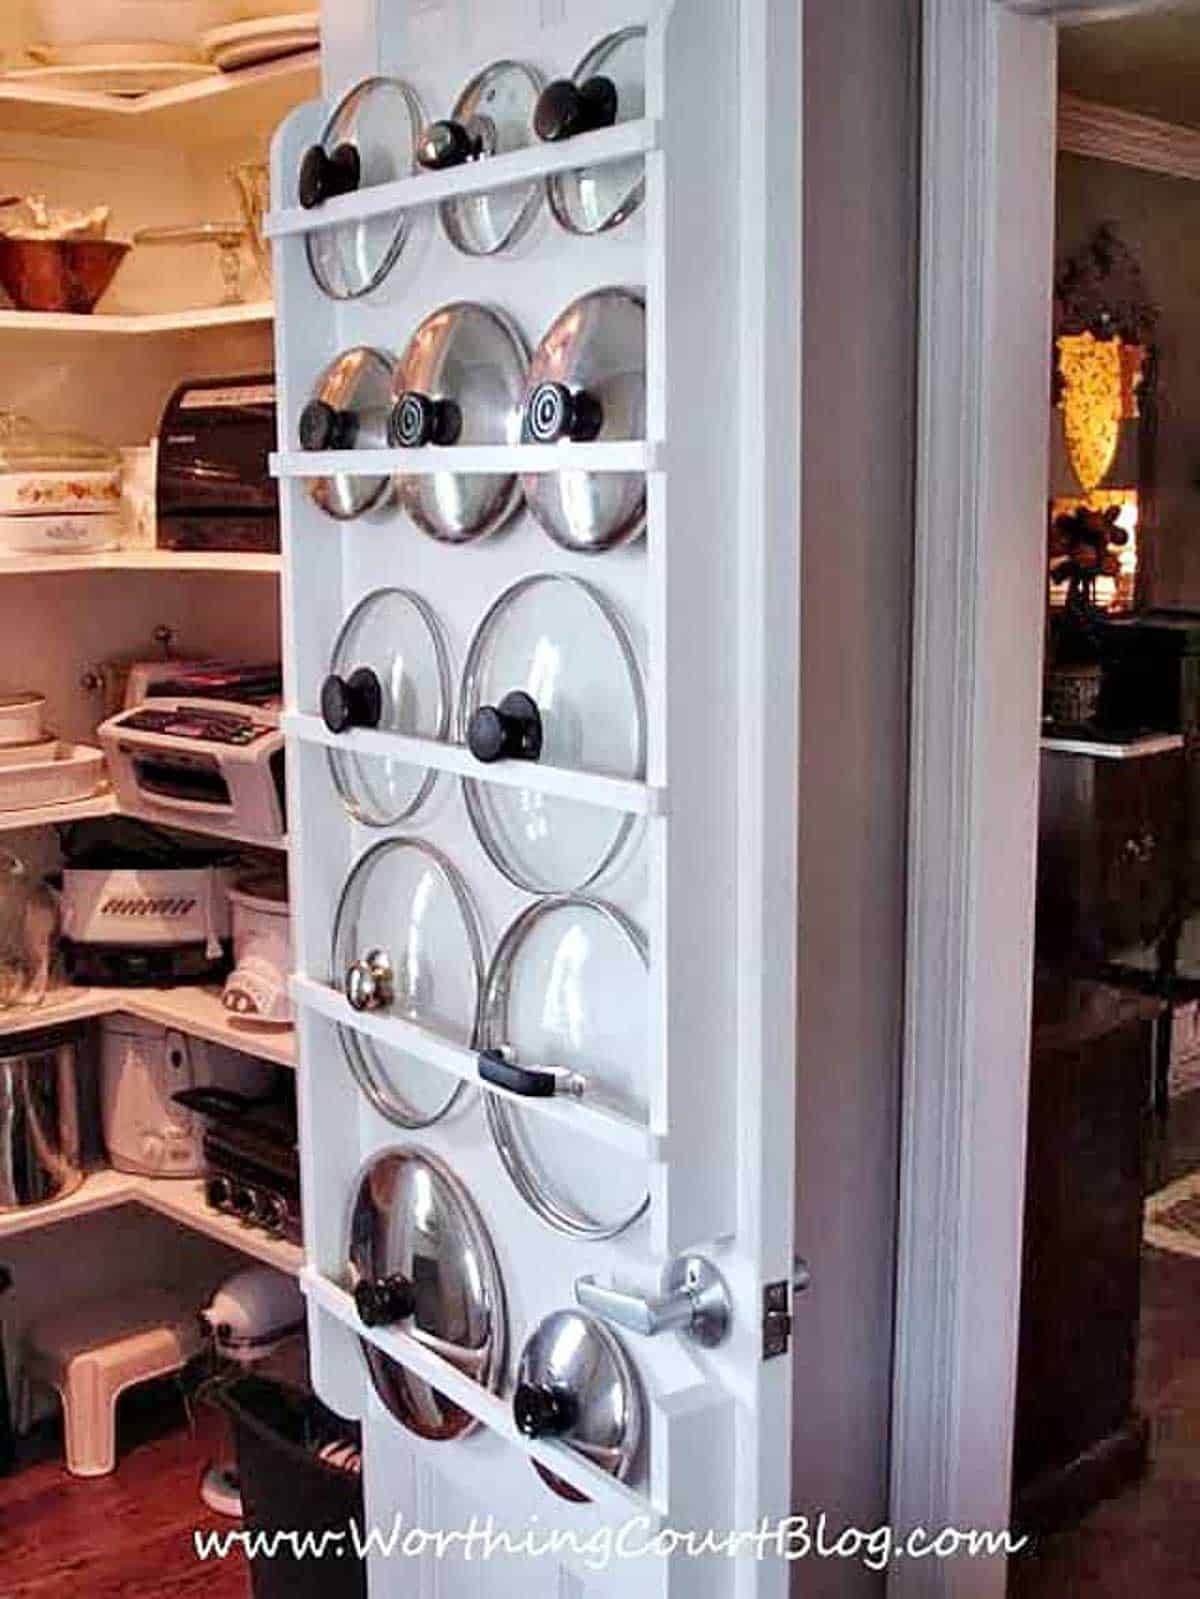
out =
{"type": "Polygon", "coordinates": [[[512,1420],[512,1407],[501,1394],[488,1393],[470,1377],[466,1377],[456,1366],[435,1354],[427,1345],[411,1334],[387,1327],[366,1327],[358,1319],[354,1297],[322,1276],[314,1266],[306,1265],[299,1274],[301,1287],[307,1298],[328,1311],[336,1321],[349,1327],[360,1338],[374,1345],[382,1354],[397,1361],[414,1377],[430,1383],[446,1399],[459,1406],[490,1431],[498,1433],[507,1444],[518,1449],[530,1460],[546,1466],[563,1482],[586,1493],[598,1516],[605,1521],[627,1522],[632,1517],[645,1517],[646,1533],[653,1537],[662,1525],[662,1514],[642,1493],[618,1482],[606,1471],[594,1466],[574,1449],[552,1439],[530,1439],[517,1431],[512,1420]]]}

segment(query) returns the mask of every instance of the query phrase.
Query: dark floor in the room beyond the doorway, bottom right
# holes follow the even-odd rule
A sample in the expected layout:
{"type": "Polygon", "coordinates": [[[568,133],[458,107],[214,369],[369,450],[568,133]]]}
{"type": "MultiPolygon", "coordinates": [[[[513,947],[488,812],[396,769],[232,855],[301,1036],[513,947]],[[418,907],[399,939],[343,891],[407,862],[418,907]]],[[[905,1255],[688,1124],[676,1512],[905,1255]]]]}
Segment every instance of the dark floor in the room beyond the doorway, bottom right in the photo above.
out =
{"type": "MultiPolygon", "coordinates": [[[[1200,1167],[1200,1094],[1176,1102],[1150,1186],[1200,1167]]],[[[1011,1562],[1010,1599],[1200,1599],[1200,1260],[1142,1252],[1138,1399],[1150,1469],[1011,1562]]]]}

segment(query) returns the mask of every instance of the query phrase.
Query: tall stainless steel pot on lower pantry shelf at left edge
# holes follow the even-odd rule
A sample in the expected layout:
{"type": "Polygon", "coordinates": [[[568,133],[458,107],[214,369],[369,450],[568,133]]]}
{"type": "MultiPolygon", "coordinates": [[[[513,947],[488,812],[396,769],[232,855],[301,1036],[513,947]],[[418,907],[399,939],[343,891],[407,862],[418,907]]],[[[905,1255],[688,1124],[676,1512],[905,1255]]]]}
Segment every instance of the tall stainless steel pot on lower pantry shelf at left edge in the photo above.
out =
{"type": "Polygon", "coordinates": [[[0,1212],[62,1199],[83,1182],[78,1033],[51,1030],[0,1054],[0,1212]]]}

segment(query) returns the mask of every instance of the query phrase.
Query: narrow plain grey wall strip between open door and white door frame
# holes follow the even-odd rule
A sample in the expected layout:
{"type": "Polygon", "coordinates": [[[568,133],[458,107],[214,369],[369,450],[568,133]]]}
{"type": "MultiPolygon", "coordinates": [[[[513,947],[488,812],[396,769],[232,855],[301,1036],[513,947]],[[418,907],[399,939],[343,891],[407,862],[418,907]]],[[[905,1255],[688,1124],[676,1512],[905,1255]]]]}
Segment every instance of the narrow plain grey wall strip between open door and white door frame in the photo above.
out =
{"type": "MultiPolygon", "coordinates": [[[[912,571],[915,0],[805,6],[795,1506],[886,1521],[912,571]],[[805,1375],[818,1353],[822,1380],[805,1375]]],[[[850,1561],[805,1599],[874,1594],[850,1561]]]]}

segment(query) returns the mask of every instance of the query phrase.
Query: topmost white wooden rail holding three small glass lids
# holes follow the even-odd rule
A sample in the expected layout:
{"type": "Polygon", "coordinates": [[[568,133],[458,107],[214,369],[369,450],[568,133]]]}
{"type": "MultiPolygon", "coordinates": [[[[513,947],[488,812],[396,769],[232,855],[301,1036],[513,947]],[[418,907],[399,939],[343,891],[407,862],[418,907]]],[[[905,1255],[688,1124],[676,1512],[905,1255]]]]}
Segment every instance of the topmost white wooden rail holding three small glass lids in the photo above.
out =
{"type": "Polygon", "coordinates": [[[555,173],[570,173],[579,166],[610,166],[635,155],[656,150],[659,125],[651,117],[640,122],[618,123],[597,133],[581,134],[565,144],[538,144],[509,155],[493,155],[486,161],[470,161],[445,173],[418,173],[413,177],[397,177],[390,184],[376,184],[349,195],[338,195],[325,205],[304,211],[290,206],[272,211],[266,219],[267,238],[286,238],[294,233],[317,233],[322,229],[344,222],[362,222],[368,217],[390,216],[395,211],[414,211],[438,205],[462,195],[482,195],[509,184],[526,184],[555,173]]]}

